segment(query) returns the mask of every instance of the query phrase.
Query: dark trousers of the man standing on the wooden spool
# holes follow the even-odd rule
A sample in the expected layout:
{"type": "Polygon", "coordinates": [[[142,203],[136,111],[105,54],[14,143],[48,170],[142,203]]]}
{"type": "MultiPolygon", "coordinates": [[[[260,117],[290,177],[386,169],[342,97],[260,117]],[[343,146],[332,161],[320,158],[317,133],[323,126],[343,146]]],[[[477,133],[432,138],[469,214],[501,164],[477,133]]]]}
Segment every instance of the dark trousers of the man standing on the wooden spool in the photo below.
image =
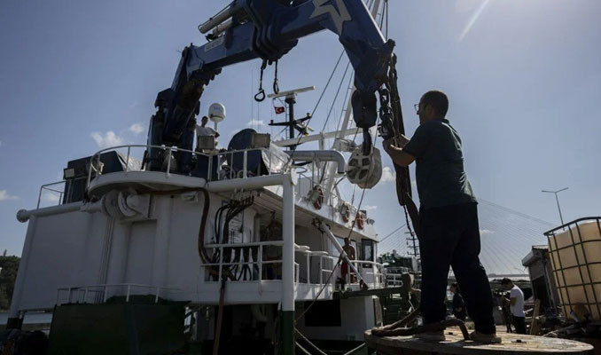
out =
{"type": "Polygon", "coordinates": [[[496,332],[493,296],[480,264],[480,227],[476,203],[420,209],[422,264],[420,309],[424,324],[444,320],[449,266],[453,267],[465,308],[480,333],[496,332]]]}

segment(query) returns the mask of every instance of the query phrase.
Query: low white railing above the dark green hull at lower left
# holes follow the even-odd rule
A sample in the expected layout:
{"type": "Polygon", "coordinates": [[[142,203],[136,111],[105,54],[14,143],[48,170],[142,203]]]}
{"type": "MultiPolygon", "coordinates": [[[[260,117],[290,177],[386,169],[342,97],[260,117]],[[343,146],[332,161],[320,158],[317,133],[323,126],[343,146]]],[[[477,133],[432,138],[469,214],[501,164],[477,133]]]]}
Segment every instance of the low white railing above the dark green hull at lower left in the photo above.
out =
{"type": "MultiPolygon", "coordinates": [[[[154,296],[154,303],[156,304],[157,302],[159,302],[161,291],[173,289],[175,288],[162,288],[152,285],[142,285],[135,283],[118,283],[59,288],[57,291],[57,305],[74,303],[102,304],[105,303],[110,296],[125,296],[125,302],[127,303],[129,302],[130,296],[140,295],[154,296]],[[66,301],[64,301],[65,299],[66,301]]],[[[165,294],[166,292],[162,293],[163,296],[165,296],[165,294]]]]}

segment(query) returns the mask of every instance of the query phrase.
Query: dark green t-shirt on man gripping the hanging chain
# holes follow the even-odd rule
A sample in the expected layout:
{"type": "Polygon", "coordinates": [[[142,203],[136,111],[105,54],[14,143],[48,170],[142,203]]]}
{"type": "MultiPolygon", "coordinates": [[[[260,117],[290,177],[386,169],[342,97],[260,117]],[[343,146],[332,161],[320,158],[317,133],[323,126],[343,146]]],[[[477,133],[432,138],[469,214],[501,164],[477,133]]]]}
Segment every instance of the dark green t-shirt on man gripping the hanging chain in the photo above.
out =
{"type": "Polygon", "coordinates": [[[439,119],[420,124],[402,150],[416,158],[422,208],[476,202],[465,175],[461,138],[449,121],[439,119]]]}

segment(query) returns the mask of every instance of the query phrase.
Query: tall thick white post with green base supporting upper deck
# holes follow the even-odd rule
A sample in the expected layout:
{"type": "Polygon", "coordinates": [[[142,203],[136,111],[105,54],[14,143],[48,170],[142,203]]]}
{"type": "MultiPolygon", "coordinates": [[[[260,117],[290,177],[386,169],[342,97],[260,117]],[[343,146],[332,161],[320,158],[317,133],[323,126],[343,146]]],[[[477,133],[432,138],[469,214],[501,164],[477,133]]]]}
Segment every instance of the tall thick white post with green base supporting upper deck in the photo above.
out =
{"type": "Polygon", "coordinates": [[[282,313],[281,339],[285,355],[294,354],[294,185],[291,175],[283,182],[282,196],[282,313]]]}

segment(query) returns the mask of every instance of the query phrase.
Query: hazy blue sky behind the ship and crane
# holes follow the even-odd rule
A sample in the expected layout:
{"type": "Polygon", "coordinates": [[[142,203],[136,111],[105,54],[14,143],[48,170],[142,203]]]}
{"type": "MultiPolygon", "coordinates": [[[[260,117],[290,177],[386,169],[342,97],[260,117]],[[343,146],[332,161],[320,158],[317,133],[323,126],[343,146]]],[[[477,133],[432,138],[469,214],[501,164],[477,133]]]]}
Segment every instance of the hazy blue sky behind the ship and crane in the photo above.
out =
{"type": "MultiPolygon", "coordinates": [[[[180,51],[206,42],[197,27],[225,4],[3,3],[0,252],[20,255],[27,224],[15,214],[35,208],[40,186],[59,181],[66,162],[106,146],[145,143],[154,99],[170,86],[180,51]]],[[[555,199],[541,190],[569,186],[559,194],[564,220],[601,215],[599,18],[597,0],[391,0],[388,36],[396,42],[408,135],[418,126],[413,104],[425,91],[445,91],[448,118],[463,139],[465,168],[479,198],[558,225],[555,199]]],[[[315,107],[341,50],[336,36],[323,31],[301,39],[280,60],[281,90],[316,86],[300,94],[297,113],[315,107]]],[[[207,86],[200,111],[213,102],[227,109],[219,126],[222,145],[251,126],[278,132],[265,123],[284,117],[273,113],[269,99],[253,100],[260,65],[253,60],[226,67],[207,86]]],[[[343,57],[316,109],[310,122],[316,130],[326,122],[346,65],[343,57]]],[[[272,80],[269,67],[264,86],[272,80]]],[[[327,130],[339,121],[340,96],[336,102],[327,130]]],[[[362,205],[381,235],[404,221],[386,156],[384,166],[383,180],[365,193],[362,205]]],[[[344,186],[343,193],[350,200],[353,188],[344,186]]],[[[355,204],[360,195],[356,190],[355,204]]],[[[45,195],[42,203],[56,203],[56,197],[45,195]]],[[[484,228],[487,238],[503,241],[504,234],[491,228],[484,228]]]]}

